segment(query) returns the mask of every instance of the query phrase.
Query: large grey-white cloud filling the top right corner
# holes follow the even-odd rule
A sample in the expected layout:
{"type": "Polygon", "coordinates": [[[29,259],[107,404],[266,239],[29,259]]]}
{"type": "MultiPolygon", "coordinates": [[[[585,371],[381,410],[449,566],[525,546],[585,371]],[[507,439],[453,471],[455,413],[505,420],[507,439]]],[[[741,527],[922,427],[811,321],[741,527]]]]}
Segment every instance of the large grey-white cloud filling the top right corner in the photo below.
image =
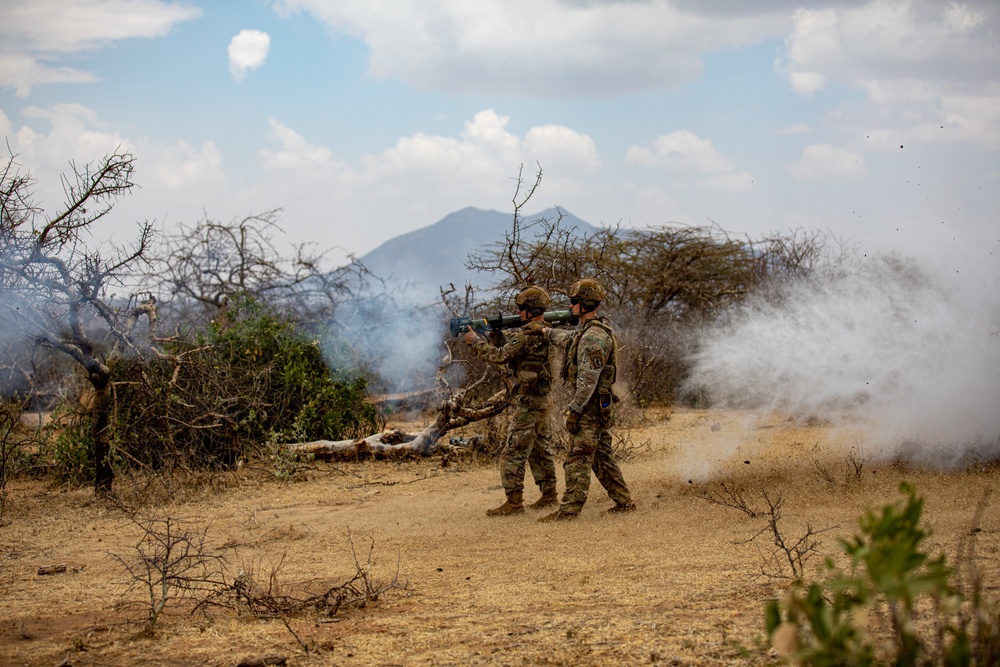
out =
{"type": "Polygon", "coordinates": [[[869,133],[877,123],[914,136],[944,125],[951,139],[990,144],[1000,139],[998,33],[995,0],[800,8],[776,67],[804,95],[833,82],[867,93],[868,104],[856,105],[841,120],[856,130],[869,133]],[[970,98],[981,101],[969,108],[970,98]],[[956,107],[968,114],[956,118],[956,107]]]}

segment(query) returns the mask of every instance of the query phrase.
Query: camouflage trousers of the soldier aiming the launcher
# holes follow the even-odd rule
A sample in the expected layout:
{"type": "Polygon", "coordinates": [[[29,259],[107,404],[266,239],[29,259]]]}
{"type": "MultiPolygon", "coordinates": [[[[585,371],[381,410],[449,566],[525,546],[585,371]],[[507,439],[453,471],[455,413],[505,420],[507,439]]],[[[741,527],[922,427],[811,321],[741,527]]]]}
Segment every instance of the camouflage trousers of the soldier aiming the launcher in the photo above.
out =
{"type": "Polygon", "coordinates": [[[500,481],[504,493],[524,492],[525,464],[544,494],[556,490],[556,464],[552,458],[552,427],[548,396],[521,394],[512,402],[514,414],[507,430],[507,445],[500,456],[500,481]]]}

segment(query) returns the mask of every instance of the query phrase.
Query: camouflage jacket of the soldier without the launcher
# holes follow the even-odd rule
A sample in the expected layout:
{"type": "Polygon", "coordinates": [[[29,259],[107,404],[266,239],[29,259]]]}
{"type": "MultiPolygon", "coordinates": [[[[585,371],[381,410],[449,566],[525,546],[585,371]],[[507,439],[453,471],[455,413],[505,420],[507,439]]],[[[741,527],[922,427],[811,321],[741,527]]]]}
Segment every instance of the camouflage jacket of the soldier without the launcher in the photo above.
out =
{"type": "Polygon", "coordinates": [[[549,338],[566,344],[563,381],[573,386],[569,408],[583,412],[595,395],[610,395],[617,375],[618,340],[606,317],[587,320],[577,331],[552,329],[549,338]]]}

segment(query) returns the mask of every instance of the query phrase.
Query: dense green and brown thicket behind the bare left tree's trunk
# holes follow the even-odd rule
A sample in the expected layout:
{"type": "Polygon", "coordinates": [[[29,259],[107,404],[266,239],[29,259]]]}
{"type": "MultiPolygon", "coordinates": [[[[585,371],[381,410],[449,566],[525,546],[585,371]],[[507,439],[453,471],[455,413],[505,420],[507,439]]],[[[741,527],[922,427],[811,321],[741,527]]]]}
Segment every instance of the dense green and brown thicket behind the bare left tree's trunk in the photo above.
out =
{"type": "MultiPolygon", "coordinates": [[[[161,356],[112,362],[116,465],[170,470],[229,466],[268,444],[370,435],[379,415],[365,379],[332,370],[291,318],[248,299],[161,356]]],[[[67,431],[84,446],[86,429],[67,431]]],[[[62,447],[65,449],[65,446],[62,447]]]]}

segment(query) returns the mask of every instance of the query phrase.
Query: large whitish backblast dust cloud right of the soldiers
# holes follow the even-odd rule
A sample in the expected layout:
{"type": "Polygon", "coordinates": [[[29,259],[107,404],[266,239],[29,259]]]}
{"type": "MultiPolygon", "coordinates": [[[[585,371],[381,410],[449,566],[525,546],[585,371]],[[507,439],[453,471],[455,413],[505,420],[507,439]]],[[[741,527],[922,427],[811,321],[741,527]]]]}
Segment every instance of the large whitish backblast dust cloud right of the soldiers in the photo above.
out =
{"type": "Polygon", "coordinates": [[[688,389],[718,407],[860,426],[881,462],[994,461],[998,292],[992,267],[959,282],[912,259],[843,262],[703,332],[688,389]]]}

